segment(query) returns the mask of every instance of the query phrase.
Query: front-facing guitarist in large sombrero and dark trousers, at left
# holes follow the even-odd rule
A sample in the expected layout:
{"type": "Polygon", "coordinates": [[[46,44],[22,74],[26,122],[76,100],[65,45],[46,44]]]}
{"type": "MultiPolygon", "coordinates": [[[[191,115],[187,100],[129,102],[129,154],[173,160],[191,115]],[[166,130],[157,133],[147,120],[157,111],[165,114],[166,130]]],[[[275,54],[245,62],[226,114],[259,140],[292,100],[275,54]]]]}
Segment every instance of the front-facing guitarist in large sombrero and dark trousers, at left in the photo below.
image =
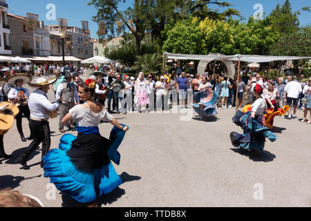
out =
{"type": "MultiPolygon", "coordinates": [[[[23,84],[27,84],[30,82],[30,78],[27,75],[23,75],[23,77],[19,76],[12,76],[8,80],[8,83],[15,84],[14,88],[11,88],[10,92],[8,93],[8,99],[10,102],[14,102],[16,104],[19,104],[19,114],[15,117],[16,118],[16,124],[17,124],[17,131],[19,131],[19,135],[21,136],[21,141],[26,142],[25,137],[23,136],[23,127],[21,126],[21,121],[23,119],[23,115],[28,119],[28,122],[30,120],[30,110],[28,107],[28,98],[30,96],[29,90],[27,88],[23,88],[23,84]],[[24,79],[26,81],[24,81],[24,79]]],[[[32,140],[33,135],[30,133],[30,137],[28,140],[32,140]]]]}

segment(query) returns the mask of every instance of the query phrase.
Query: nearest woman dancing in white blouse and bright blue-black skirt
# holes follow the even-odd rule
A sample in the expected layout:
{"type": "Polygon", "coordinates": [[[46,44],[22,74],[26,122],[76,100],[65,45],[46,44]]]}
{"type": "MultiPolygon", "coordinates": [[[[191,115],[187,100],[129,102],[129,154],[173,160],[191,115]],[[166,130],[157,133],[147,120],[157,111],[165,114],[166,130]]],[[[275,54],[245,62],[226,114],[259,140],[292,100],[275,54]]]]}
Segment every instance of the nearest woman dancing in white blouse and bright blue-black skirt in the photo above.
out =
{"type": "Polygon", "coordinates": [[[77,137],[64,135],[59,149],[53,149],[44,157],[44,177],[50,177],[59,191],[73,199],[97,207],[97,197],[110,193],[122,183],[111,160],[120,163],[117,148],[121,144],[127,126],[121,125],[98,102],[95,102],[95,80],[87,79],[79,86],[79,99],[85,100],[70,109],[62,120],[73,119],[77,124],[77,137]],[[113,124],[109,140],[100,135],[100,121],[113,124]]]}

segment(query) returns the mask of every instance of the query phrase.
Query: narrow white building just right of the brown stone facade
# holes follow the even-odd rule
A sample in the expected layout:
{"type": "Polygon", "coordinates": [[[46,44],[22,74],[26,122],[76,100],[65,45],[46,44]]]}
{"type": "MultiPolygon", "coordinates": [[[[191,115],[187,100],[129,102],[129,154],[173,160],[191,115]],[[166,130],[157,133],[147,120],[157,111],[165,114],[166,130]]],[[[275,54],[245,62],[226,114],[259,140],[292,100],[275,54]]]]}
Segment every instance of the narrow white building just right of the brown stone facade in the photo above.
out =
{"type": "Polygon", "coordinates": [[[33,32],[34,55],[49,56],[50,53],[50,33],[44,29],[44,22],[39,21],[39,28],[33,32]]]}

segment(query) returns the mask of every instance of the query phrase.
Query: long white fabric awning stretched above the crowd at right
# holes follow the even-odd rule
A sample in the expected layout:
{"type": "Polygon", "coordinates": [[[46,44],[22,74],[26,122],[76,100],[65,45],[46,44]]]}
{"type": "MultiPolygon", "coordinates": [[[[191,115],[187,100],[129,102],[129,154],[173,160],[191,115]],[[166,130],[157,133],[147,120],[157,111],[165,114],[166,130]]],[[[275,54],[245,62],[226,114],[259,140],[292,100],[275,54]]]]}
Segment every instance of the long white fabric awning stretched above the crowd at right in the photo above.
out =
{"type": "Polygon", "coordinates": [[[300,59],[311,59],[311,57],[293,57],[293,56],[267,56],[267,55],[182,55],[172,54],[164,52],[166,59],[179,59],[179,60],[229,60],[245,62],[271,62],[271,61],[286,61],[286,60],[300,60],[300,59]]]}

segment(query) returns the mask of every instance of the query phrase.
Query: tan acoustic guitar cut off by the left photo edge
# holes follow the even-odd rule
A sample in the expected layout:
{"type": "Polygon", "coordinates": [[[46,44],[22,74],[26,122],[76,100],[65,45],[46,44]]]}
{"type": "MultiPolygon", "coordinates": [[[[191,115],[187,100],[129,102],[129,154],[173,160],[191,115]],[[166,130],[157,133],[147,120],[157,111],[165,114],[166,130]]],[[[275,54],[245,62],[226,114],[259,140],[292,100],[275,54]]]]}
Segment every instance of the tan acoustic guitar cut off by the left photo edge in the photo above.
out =
{"type": "Polygon", "coordinates": [[[14,124],[15,116],[19,114],[19,108],[11,102],[2,102],[0,106],[9,106],[0,111],[0,135],[5,135],[14,124]]]}

